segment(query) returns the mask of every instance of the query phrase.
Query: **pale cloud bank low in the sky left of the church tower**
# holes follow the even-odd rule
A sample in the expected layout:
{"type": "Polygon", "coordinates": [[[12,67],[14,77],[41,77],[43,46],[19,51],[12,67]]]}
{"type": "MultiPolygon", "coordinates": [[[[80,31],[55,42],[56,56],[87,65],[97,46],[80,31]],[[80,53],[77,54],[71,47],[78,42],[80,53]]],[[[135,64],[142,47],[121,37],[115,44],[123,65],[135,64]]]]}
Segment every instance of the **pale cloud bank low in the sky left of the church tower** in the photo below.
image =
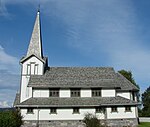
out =
{"type": "Polygon", "coordinates": [[[18,63],[19,60],[6,53],[0,45],[0,107],[12,106],[15,92],[19,89],[18,63]]]}

